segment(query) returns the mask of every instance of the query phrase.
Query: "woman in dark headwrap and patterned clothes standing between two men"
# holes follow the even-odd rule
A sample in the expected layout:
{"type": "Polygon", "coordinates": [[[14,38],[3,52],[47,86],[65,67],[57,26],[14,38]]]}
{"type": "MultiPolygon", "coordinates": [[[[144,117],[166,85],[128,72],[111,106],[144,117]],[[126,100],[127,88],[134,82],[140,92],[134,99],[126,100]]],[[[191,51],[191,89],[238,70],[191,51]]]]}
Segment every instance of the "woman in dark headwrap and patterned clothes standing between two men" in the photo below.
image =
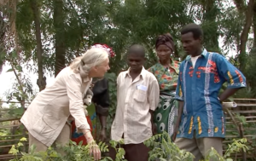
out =
{"type": "Polygon", "coordinates": [[[178,62],[172,60],[174,43],[169,33],[160,35],[155,42],[155,50],[159,62],[148,69],[157,78],[160,86],[160,103],[154,111],[154,124],[158,133],[164,130],[173,134],[177,118],[177,101],[174,100],[178,78],[178,62]]]}

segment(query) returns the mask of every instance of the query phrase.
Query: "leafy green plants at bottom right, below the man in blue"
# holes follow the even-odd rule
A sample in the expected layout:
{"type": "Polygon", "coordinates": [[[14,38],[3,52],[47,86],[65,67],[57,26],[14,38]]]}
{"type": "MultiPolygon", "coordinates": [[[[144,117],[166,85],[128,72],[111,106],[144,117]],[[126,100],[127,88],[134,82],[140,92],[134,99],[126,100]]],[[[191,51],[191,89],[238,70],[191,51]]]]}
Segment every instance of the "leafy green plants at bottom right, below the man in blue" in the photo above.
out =
{"type": "MultiPolygon", "coordinates": [[[[240,152],[243,150],[247,152],[248,147],[245,145],[247,139],[233,140],[233,143],[229,145],[224,157],[220,156],[218,152],[212,148],[205,158],[206,161],[217,160],[217,161],[233,161],[230,158],[230,154],[234,152],[240,152]]],[[[160,160],[160,161],[193,161],[194,156],[190,152],[180,150],[175,143],[172,142],[169,135],[164,132],[161,135],[154,135],[144,142],[147,147],[151,147],[149,152],[148,160],[160,160]]]]}

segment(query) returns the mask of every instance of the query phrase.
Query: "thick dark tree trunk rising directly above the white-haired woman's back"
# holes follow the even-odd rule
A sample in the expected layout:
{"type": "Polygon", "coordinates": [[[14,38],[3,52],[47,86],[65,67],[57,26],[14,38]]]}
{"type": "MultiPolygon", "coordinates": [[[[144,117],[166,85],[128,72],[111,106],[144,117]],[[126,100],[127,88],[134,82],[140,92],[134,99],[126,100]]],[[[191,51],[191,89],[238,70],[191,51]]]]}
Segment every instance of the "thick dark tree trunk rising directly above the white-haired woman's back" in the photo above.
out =
{"type": "Polygon", "coordinates": [[[54,0],[54,26],[55,26],[55,77],[65,67],[65,29],[63,1],[54,0]]]}

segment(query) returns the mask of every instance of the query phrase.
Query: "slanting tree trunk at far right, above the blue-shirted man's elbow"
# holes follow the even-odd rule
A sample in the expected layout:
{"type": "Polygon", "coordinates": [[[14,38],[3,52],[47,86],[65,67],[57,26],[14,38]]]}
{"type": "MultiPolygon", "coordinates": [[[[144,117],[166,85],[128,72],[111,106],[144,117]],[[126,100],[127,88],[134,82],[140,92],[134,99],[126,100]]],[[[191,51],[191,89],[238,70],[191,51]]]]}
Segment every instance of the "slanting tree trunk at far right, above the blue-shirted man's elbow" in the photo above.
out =
{"type": "Polygon", "coordinates": [[[246,47],[247,47],[248,33],[250,32],[250,28],[253,23],[253,6],[254,6],[254,0],[249,0],[249,3],[247,4],[245,24],[241,32],[240,54],[238,55],[241,72],[244,72],[246,68],[246,47]]]}

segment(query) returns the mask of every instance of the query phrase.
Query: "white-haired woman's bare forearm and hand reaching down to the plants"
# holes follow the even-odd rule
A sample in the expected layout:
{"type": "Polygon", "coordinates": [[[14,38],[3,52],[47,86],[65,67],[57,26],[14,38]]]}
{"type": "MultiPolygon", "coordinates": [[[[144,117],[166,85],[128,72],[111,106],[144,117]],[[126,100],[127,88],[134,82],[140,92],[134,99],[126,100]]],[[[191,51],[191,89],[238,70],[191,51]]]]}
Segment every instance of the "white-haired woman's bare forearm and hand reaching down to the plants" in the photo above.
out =
{"type": "Polygon", "coordinates": [[[85,132],[83,131],[84,136],[86,138],[86,141],[90,147],[90,155],[93,155],[95,160],[100,160],[102,158],[101,156],[101,150],[98,147],[98,145],[96,144],[96,141],[94,141],[90,130],[86,130],[85,132]]]}

